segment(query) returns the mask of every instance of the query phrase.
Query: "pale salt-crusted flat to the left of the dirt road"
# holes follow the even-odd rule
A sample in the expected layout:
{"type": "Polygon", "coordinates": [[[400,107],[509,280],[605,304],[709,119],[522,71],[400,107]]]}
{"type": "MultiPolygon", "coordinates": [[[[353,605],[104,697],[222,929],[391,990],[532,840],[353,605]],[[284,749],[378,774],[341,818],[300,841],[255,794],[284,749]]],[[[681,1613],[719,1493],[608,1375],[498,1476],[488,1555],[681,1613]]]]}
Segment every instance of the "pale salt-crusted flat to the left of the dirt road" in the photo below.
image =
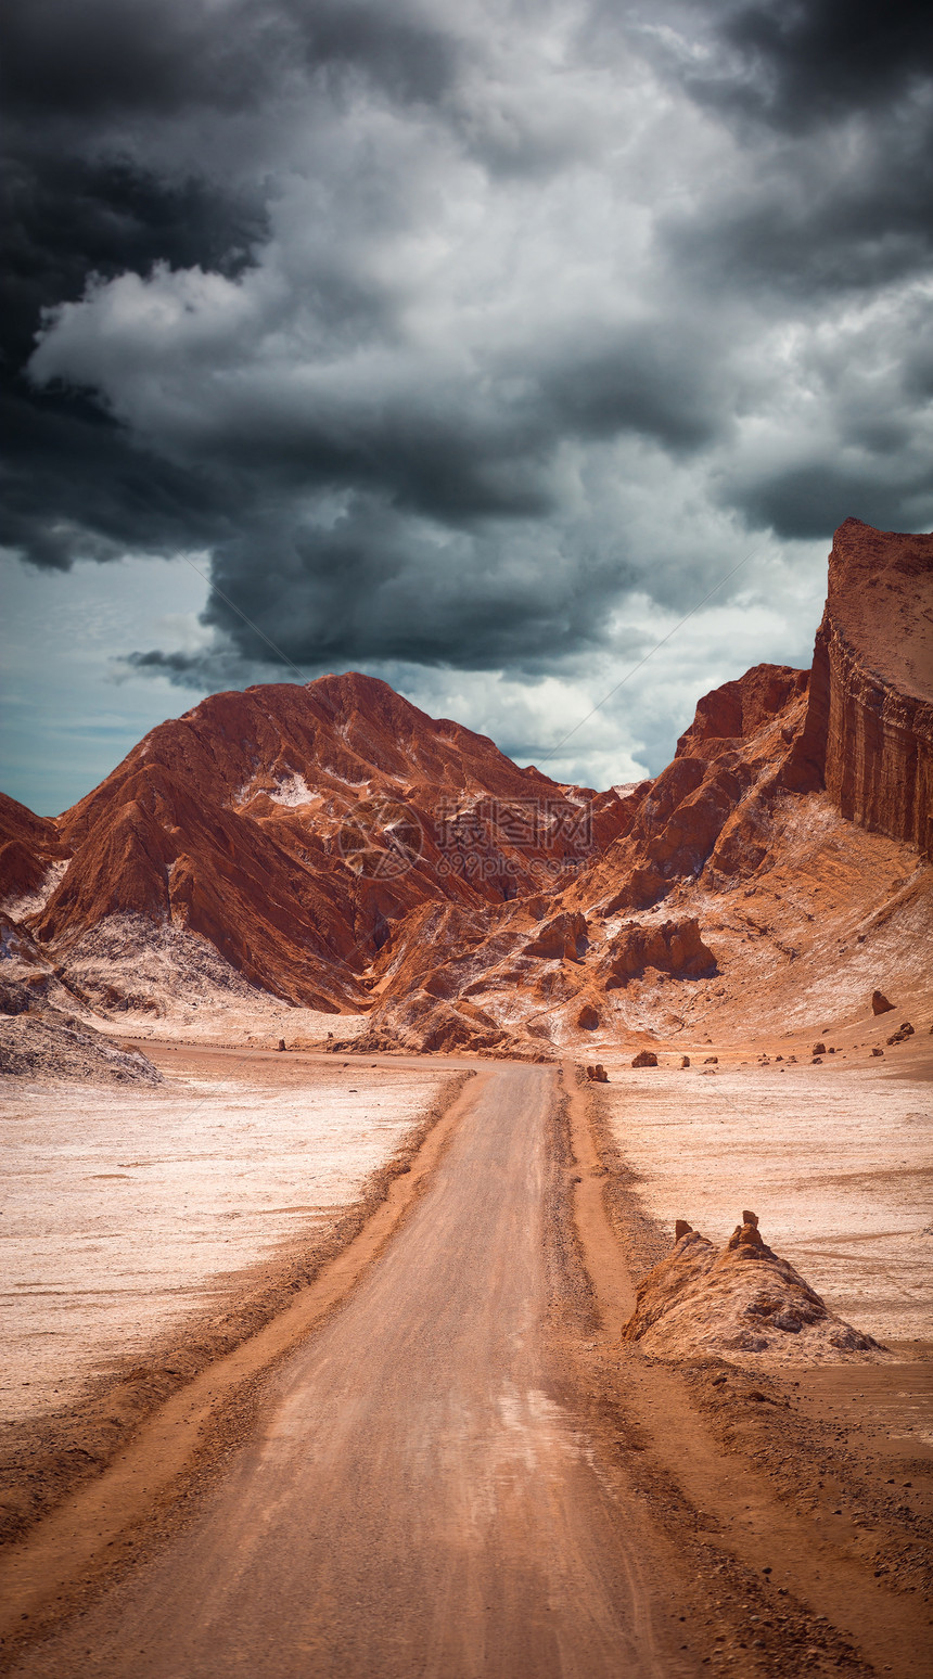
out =
{"type": "Polygon", "coordinates": [[[450,1076],[5,1095],[0,1419],[65,1404],[173,1321],[223,1310],[233,1273],[359,1197],[450,1076]]]}

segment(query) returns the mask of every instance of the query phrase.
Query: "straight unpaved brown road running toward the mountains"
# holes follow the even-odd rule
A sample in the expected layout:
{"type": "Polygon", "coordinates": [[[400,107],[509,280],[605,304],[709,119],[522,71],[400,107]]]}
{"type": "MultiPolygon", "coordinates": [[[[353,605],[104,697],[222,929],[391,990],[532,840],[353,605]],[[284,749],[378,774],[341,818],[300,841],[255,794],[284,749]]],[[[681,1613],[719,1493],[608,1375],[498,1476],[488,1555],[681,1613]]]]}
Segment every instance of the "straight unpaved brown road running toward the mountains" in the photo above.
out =
{"type": "Polygon", "coordinates": [[[195,1523],[17,1669],[121,1679],[670,1676],[636,1540],[547,1394],[554,1073],[482,1081],[195,1523]]]}

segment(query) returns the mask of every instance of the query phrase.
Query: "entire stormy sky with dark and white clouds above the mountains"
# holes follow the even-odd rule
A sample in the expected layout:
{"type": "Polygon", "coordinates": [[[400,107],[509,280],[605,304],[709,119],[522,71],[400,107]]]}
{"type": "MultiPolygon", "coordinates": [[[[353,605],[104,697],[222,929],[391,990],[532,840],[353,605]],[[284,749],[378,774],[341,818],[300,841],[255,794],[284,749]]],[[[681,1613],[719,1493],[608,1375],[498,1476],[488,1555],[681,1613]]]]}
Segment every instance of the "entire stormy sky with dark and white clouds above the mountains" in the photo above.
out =
{"type": "Polygon", "coordinates": [[[352,668],[654,774],[811,663],[844,517],[933,524],[928,7],[12,0],[3,77],[0,786],[44,814],[352,668]]]}

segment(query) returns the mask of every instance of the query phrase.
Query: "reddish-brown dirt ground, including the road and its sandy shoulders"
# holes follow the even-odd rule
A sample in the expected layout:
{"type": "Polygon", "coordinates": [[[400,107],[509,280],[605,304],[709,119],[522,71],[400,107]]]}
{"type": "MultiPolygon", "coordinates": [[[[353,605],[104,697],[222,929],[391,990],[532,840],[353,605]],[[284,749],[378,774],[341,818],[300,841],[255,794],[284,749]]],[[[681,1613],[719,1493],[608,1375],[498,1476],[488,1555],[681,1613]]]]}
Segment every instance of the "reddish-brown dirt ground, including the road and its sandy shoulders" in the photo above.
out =
{"type": "Polygon", "coordinates": [[[926,1679],[923,1350],[762,1373],[626,1350],[631,1174],[596,1086],[562,1071],[562,1130],[550,1070],[473,1064],[356,1241],[7,1548],[13,1671],[926,1679]]]}

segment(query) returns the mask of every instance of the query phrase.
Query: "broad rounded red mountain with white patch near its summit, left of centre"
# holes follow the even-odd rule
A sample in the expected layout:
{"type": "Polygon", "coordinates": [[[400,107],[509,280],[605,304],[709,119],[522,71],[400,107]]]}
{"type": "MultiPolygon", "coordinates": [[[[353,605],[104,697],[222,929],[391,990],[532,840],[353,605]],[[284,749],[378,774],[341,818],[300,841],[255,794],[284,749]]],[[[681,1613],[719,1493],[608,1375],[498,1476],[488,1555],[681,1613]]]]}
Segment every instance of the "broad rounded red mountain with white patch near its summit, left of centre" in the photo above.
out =
{"type": "MultiPolygon", "coordinates": [[[[171,922],[255,986],[359,1009],[362,972],[425,902],[502,905],[579,865],[589,798],[376,678],[248,688],[154,729],[59,823],[5,801],[3,893],[70,856],[30,920],[44,945],[67,954],[109,917],[171,922]]],[[[602,834],[624,824],[614,792],[597,803],[602,834]]]]}

